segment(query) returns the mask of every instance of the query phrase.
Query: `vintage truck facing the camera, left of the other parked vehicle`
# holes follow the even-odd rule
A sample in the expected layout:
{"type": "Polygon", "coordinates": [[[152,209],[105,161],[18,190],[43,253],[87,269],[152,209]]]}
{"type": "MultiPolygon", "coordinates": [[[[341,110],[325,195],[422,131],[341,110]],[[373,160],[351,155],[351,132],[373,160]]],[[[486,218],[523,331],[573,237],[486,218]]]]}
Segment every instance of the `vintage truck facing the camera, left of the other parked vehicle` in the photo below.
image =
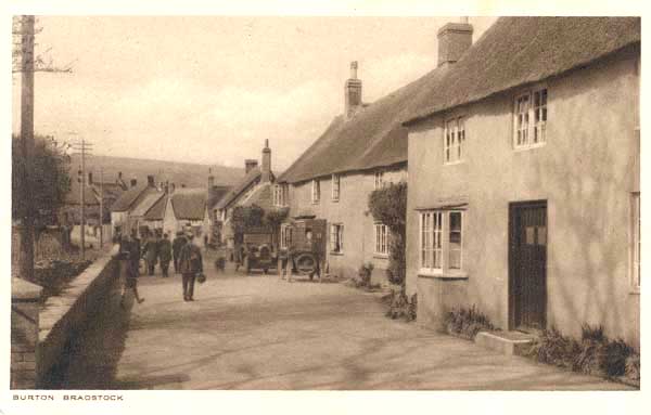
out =
{"type": "Polygon", "coordinates": [[[275,242],[276,236],[271,228],[257,226],[244,231],[239,251],[241,264],[246,273],[257,269],[266,274],[269,269],[276,268],[278,249],[275,242]]]}

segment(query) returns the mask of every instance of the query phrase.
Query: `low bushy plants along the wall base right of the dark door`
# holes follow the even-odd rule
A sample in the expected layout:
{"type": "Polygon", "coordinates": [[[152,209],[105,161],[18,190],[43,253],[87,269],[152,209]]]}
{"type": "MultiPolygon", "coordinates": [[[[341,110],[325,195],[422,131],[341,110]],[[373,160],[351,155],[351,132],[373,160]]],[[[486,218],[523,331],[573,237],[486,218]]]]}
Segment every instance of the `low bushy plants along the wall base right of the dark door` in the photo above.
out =
{"type": "Polygon", "coordinates": [[[556,327],[544,330],[527,354],[538,362],[587,375],[639,380],[639,354],[624,340],[609,339],[601,326],[584,324],[580,342],[556,327]]]}

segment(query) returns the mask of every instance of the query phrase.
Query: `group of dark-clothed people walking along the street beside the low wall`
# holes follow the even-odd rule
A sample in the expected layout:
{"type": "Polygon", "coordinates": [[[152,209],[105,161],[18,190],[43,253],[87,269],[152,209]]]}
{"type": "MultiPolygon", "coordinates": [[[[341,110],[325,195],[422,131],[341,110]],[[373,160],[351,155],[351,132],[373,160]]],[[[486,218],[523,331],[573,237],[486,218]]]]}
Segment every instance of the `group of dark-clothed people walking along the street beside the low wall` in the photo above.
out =
{"type": "MultiPolygon", "coordinates": [[[[193,243],[194,235],[177,232],[174,242],[169,242],[166,233],[148,234],[141,245],[136,230],[129,236],[124,235],[119,241],[119,259],[126,273],[126,288],[133,291],[138,303],[144,301],[138,295],[137,277],[140,275],[140,259],[144,259],[149,275],[154,275],[159,262],[163,277],[168,277],[169,262],[174,260],[175,273],[181,273],[183,284],[183,300],[194,301],[194,282],[197,275],[203,275],[203,258],[201,249],[193,243]]],[[[123,293],[124,299],[124,293],[123,293]]],[[[124,306],[124,304],[123,304],[124,306]]]]}

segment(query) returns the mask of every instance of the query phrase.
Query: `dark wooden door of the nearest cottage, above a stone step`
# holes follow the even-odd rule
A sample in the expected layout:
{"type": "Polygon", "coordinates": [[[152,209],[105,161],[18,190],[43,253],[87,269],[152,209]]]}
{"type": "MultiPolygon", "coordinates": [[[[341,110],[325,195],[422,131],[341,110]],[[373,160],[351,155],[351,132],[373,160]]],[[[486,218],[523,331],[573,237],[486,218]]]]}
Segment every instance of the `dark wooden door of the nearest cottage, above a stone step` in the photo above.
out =
{"type": "Polygon", "coordinates": [[[547,202],[509,206],[510,328],[547,324],[547,202]]]}

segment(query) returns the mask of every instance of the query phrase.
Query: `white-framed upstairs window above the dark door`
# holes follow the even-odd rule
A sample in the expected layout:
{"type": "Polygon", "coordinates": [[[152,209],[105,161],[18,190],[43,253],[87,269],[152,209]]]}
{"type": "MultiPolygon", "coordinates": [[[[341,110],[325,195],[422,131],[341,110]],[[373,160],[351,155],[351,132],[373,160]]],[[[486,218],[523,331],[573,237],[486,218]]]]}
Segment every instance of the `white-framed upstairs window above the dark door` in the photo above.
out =
{"type": "Polygon", "coordinates": [[[513,150],[529,150],[546,145],[548,120],[549,88],[547,86],[538,86],[515,95],[513,99],[513,150]],[[545,102],[542,102],[542,94],[545,102]],[[538,102],[536,101],[537,96],[540,96],[538,102]],[[520,103],[524,100],[526,100],[526,107],[521,108],[520,103]]]}

